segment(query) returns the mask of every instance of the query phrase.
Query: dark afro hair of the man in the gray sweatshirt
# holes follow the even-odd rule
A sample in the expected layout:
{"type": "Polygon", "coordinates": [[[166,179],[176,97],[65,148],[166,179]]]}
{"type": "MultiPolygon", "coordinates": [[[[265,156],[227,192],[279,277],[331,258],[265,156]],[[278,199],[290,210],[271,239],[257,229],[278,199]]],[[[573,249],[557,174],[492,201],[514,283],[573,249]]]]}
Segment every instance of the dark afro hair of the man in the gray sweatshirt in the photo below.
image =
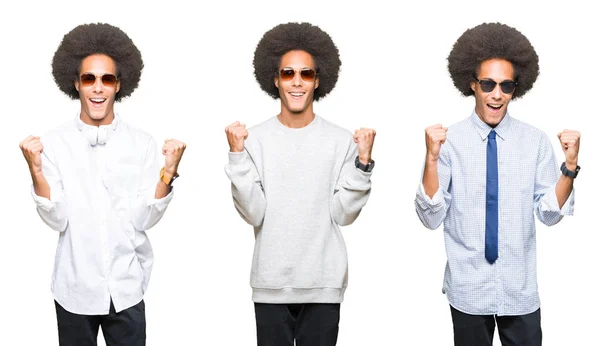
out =
{"type": "Polygon", "coordinates": [[[279,24],[264,34],[254,52],[254,75],[260,87],[274,99],[279,98],[273,78],[279,74],[281,57],[293,50],[313,57],[319,78],[314,100],[325,97],[335,87],[342,62],[331,37],[310,23],[279,24]]]}

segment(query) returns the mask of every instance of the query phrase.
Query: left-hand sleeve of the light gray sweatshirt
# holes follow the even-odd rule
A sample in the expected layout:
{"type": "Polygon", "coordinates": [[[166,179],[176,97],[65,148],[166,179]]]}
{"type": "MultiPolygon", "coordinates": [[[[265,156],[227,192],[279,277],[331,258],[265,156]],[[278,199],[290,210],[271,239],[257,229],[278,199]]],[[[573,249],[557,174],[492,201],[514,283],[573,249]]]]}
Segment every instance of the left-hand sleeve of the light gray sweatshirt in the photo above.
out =
{"type": "Polygon", "coordinates": [[[231,180],[233,204],[240,216],[254,227],[262,225],[267,200],[256,165],[248,151],[229,152],[225,173],[231,180]]]}

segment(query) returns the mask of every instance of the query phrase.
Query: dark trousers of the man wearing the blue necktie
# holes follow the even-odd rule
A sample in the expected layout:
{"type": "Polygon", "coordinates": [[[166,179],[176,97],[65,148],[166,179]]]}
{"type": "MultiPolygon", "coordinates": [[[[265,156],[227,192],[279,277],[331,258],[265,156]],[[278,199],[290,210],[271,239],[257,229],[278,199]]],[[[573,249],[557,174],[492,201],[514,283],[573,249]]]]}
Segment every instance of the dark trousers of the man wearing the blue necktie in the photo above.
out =
{"type": "Polygon", "coordinates": [[[540,309],[520,316],[469,315],[452,306],[450,312],[456,346],[491,346],[496,324],[503,346],[542,345],[540,309]]]}

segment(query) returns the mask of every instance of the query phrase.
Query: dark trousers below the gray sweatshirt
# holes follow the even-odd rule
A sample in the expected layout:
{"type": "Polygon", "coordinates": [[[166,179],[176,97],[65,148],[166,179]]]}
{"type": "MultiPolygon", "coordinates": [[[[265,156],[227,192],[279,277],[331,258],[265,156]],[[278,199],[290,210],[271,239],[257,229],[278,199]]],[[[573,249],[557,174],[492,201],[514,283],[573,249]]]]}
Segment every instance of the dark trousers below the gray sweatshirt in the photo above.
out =
{"type": "Polygon", "coordinates": [[[254,304],[258,346],[335,346],[340,304],[254,304]]]}

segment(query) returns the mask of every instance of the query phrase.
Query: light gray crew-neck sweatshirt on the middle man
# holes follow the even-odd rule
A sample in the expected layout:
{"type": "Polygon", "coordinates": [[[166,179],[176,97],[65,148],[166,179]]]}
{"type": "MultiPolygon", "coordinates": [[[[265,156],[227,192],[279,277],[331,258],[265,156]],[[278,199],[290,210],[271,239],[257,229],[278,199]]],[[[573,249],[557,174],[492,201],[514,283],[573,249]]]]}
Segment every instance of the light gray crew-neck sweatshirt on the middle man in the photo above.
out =
{"type": "Polygon", "coordinates": [[[352,134],[319,116],[299,129],[272,117],[248,133],[225,172],[254,226],[253,301],[341,303],[348,258],[339,226],[356,220],[371,189],[352,134]]]}

